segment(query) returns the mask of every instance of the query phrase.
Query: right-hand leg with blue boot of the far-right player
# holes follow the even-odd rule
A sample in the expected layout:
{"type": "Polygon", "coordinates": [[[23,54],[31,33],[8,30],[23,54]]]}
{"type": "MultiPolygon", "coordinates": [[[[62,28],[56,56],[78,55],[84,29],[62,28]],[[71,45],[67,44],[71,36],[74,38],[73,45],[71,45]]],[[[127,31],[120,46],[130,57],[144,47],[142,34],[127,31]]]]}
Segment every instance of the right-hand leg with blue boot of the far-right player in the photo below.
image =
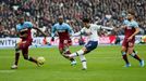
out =
{"type": "Polygon", "coordinates": [[[137,53],[134,51],[134,43],[129,42],[129,49],[127,49],[129,54],[137,59],[139,62],[139,65],[144,67],[144,60],[137,55],[137,53]]]}

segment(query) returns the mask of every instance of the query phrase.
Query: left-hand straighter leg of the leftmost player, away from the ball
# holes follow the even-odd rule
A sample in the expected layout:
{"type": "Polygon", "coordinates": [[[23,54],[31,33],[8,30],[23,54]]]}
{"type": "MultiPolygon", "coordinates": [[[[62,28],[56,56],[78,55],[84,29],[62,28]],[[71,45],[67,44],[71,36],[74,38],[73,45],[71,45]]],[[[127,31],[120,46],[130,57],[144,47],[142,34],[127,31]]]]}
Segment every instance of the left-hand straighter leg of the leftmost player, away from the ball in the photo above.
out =
{"type": "Polygon", "coordinates": [[[14,62],[14,65],[12,65],[12,67],[11,67],[12,69],[17,68],[19,59],[20,59],[20,43],[16,43],[16,45],[15,45],[15,62],[14,62]]]}

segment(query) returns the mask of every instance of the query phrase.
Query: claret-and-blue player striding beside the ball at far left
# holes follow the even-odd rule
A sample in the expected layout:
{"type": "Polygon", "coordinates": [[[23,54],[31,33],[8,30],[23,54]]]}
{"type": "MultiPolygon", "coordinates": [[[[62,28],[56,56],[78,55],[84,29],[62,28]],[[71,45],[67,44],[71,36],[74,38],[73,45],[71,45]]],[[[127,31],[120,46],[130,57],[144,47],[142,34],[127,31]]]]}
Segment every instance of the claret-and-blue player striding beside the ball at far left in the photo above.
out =
{"type": "Polygon", "coordinates": [[[16,43],[15,45],[15,62],[14,65],[12,65],[11,67],[12,69],[17,68],[20,51],[22,51],[24,59],[33,62],[38,66],[40,66],[37,59],[28,55],[28,48],[29,45],[32,45],[33,42],[32,32],[31,32],[32,28],[41,32],[45,36],[45,38],[47,37],[39,28],[35,27],[31,22],[24,22],[24,17],[22,16],[19,17],[19,24],[16,25],[16,30],[22,41],[16,43]]]}

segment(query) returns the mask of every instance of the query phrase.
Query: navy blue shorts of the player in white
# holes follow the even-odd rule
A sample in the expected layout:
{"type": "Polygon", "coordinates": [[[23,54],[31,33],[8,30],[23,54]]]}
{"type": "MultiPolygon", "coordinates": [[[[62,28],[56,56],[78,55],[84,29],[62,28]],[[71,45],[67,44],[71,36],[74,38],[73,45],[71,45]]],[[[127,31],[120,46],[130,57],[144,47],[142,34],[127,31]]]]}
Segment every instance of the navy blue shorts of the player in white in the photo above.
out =
{"type": "Polygon", "coordinates": [[[98,41],[88,41],[87,44],[85,44],[85,48],[87,49],[87,53],[95,50],[98,45],[98,41]]]}

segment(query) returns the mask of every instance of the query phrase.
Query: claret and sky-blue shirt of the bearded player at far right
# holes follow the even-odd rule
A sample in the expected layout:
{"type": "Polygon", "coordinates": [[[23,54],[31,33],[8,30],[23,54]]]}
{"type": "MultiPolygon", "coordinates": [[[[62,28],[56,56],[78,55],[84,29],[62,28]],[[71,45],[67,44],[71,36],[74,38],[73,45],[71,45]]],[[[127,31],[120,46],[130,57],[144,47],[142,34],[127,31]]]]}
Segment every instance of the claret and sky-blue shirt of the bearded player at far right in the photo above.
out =
{"type": "Polygon", "coordinates": [[[125,27],[124,35],[125,35],[125,38],[129,38],[130,36],[132,36],[135,32],[135,28],[138,27],[138,24],[137,24],[137,22],[132,21],[132,22],[127,22],[125,26],[126,27],[125,27]]]}

